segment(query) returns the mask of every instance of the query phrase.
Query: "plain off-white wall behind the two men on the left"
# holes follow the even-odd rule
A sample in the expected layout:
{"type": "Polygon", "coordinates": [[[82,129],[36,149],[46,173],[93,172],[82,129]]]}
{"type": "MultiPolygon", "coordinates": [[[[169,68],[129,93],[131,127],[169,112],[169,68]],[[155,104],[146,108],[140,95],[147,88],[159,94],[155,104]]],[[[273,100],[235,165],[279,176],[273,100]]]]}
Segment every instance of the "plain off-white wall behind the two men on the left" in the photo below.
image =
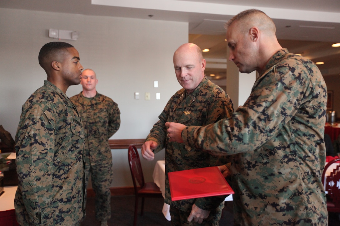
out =
{"type": "MultiPolygon", "coordinates": [[[[13,137],[22,104],[46,79],[38,53],[45,43],[57,41],[48,37],[50,28],[80,32],[77,41],[61,41],[79,51],[84,68],[96,71],[97,90],[118,103],[121,126],[112,139],[145,138],[168,99],[181,88],[172,56],[188,42],[188,23],[0,8],[0,124],[13,137]],[[154,80],[158,88],[153,88],[154,80]],[[134,92],[140,93],[139,100],[134,92]],[[151,100],[144,100],[145,92],[151,100]],[[156,92],[160,100],[155,100],[156,92]]],[[[80,91],[80,85],[72,86],[66,94],[80,91]]],[[[112,187],[132,186],[127,150],[112,153],[112,187]]],[[[164,151],[156,157],[164,159],[164,151]]],[[[142,164],[146,180],[152,180],[155,162],[142,164]]]]}

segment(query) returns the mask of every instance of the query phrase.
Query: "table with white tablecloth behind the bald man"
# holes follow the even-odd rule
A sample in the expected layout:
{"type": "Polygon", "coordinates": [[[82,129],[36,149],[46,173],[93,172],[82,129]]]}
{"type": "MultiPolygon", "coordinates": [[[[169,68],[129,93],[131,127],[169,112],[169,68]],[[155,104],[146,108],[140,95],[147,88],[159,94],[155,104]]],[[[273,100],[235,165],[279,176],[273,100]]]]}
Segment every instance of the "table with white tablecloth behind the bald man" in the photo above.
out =
{"type": "MultiPolygon", "coordinates": [[[[159,190],[162,192],[163,197],[165,197],[165,160],[159,160],[156,162],[154,170],[153,170],[153,181],[159,187],[159,190]]],[[[228,195],[224,201],[233,201],[233,195],[228,195]]],[[[170,205],[164,203],[162,212],[165,218],[170,221],[170,205]]]]}

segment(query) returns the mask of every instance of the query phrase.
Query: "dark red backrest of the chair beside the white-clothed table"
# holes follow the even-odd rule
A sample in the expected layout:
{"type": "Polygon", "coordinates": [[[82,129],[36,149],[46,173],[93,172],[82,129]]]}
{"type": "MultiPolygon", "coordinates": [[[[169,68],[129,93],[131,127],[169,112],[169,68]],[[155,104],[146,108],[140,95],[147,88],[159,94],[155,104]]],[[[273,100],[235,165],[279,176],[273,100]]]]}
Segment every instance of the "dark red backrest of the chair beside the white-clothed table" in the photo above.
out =
{"type": "Polygon", "coordinates": [[[135,192],[137,192],[139,190],[139,187],[144,186],[145,182],[144,182],[142,166],[140,164],[139,154],[138,154],[136,146],[134,145],[129,146],[128,158],[129,158],[133,186],[135,188],[135,192]],[[139,187],[137,186],[137,183],[139,187]]]}

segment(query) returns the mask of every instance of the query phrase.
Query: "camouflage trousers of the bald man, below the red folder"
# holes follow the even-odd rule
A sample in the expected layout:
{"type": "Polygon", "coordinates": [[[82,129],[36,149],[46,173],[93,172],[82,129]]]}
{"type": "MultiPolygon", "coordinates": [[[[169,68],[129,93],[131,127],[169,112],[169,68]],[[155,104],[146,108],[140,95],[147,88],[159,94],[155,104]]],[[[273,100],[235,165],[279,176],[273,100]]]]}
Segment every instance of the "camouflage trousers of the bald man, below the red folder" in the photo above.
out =
{"type": "Polygon", "coordinates": [[[218,226],[219,221],[221,219],[222,210],[220,208],[216,208],[215,210],[210,211],[210,214],[207,219],[203,220],[201,224],[195,223],[193,220],[188,222],[188,216],[191,211],[185,212],[177,209],[176,207],[170,206],[170,216],[171,216],[171,225],[172,226],[218,226]]]}

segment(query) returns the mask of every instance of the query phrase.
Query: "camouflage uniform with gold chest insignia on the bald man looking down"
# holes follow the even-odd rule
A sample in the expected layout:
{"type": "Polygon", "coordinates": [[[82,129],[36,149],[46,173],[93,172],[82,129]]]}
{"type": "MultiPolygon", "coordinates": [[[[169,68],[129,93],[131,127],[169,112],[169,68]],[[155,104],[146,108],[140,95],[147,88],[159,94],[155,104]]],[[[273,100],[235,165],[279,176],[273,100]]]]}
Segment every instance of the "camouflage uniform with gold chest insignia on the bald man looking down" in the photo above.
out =
{"type": "MultiPolygon", "coordinates": [[[[223,165],[227,163],[226,157],[215,157],[201,149],[192,149],[185,147],[184,144],[169,142],[165,123],[168,121],[188,126],[202,126],[229,117],[232,113],[233,103],[229,96],[205,76],[192,93],[187,94],[184,89],[181,89],[170,98],[162,114],[159,115],[159,121],[146,138],[158,143],[155,153],[166,148],[165,202],[189,213],[193,204],[201,209],[211,210],[209,218],[204,220],[202,225],[212,225],[213,222],[218,225],[225,196],[171,201],[168,172],[223,165]]],[[[173,225],[179,223],[174,222],[173,217],[171,221],[173,225]]]]}

